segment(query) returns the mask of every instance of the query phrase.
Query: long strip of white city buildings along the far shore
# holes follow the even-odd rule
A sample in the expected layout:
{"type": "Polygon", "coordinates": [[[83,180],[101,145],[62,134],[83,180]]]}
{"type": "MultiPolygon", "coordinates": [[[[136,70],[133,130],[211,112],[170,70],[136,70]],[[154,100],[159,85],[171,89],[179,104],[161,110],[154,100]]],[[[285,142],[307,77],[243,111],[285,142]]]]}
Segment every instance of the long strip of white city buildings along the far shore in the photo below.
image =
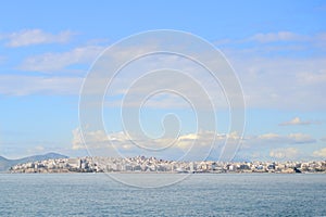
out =
{"type": "Polygon", "coordinates": [[[326,173],[326,161],[321,162],[175,162],[155,157],[78,157],[52,158],[17,164],[11,174],[301,174],[326,173]]]}

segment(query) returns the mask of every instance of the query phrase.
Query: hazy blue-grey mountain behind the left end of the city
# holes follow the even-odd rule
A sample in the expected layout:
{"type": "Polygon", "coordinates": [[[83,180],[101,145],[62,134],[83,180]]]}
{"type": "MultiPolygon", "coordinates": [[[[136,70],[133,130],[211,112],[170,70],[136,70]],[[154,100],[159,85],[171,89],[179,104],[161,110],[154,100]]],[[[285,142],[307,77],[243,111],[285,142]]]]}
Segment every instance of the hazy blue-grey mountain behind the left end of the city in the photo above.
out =
{"type": "Polygon", "coordinates": [[[8,159],[3,156],[0,156],[0,171],[7,171],[10,169],[10,167],[17,165],[17,164],[24,164],[28,162],[38,162],[38,161],[45,161],[45,159],[55,159],[55,158],[68,158],[68,156],[57,154],[57,153],[48,153],[45,155],[34,155],[34,156],[27,156],[20,159],[8,159]]]}

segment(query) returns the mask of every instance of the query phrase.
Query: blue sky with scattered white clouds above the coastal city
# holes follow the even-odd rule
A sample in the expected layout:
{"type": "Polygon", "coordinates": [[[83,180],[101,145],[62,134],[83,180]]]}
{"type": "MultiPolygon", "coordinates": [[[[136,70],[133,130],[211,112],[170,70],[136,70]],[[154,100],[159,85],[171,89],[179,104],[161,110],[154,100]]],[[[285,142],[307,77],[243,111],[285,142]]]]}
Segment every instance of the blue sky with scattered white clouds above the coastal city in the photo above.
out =
{"type": "MultiPolygon", "coordinates": [[[[237,159],[325,159],[325,21],[326,1],[3,2],[0,155],[17,158],[58,152],[68,156],[105,153],[179,158],[188,154],[189,159],[217,159],[228,141],[230,146],[240,142],[234,150],[237,159]],[[155,29],[189,33],[223,53],[242,90],[243,130],[229,127],[233,114],[227,100],[220,100],[221,86],[208,72],[180,56],[168,59],[163,54],[145,58],[118,74],[104,98],[105,130],[80,120],[83,84],[98,56],[124,38],[155,29]],[[211,117],[206,107],[193,111],[187,104],[187,99],[198,99],[199,89],[191,81],[163,72],[165,77],[142,86],[140,82],[135,91],[172,84],[171,89],[183,87],[190,95],[165,92],[150,98],[143,110],[137,108],[149,139],[130,142],[133,132],[124,131],[122,120],[134,114],[135,105],[125,104],[123,116],[120,102],[143,71],[164,64],[192,73],[197,85],[210,93],[213,104],[217,104],[210,113],[215,115],[217,128],[196,124],[196,114],[208,122],[211,117]],[[164,135],[170,129],[178,135],[164,135]],[[176,142],[168,146],[174,141],[172,136],[177,137],[176,142]]],[[[123,51],[135,53],[154,43],[134,41],[123,51]]],[[[177,49],[183,44],[173,43],[168,37],[162,43],[177,49]]],[[[118,51],[115,58],[121,58],[118,51]]]]}

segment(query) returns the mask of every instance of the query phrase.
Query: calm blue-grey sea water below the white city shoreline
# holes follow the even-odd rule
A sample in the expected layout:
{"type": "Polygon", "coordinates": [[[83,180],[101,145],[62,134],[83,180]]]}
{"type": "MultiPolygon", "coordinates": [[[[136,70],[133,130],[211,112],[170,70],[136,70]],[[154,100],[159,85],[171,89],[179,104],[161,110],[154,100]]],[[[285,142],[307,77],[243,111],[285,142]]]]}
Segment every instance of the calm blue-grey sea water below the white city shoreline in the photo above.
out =
{"type": "Polygon", "coordinates": [[[139,189],[104,174],[0,174],[0,216],[326,216],[326,175],[196,174],[139,189]]]}

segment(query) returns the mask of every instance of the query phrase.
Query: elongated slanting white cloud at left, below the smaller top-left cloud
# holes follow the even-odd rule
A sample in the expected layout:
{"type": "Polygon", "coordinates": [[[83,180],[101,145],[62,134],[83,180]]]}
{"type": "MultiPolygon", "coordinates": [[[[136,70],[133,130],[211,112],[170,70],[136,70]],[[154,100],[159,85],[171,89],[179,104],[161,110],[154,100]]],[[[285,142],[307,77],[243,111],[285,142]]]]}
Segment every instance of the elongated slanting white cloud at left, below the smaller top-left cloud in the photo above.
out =
{"type": "Polygon", "coordinates": [[[40,73],[66,72],[66,67],[71,65],[90,65],[102,50],[102,47],[87,46],[75,48],[63,53],[45,53],[29,56],[23,61],[18,68],[40,73]]]}

